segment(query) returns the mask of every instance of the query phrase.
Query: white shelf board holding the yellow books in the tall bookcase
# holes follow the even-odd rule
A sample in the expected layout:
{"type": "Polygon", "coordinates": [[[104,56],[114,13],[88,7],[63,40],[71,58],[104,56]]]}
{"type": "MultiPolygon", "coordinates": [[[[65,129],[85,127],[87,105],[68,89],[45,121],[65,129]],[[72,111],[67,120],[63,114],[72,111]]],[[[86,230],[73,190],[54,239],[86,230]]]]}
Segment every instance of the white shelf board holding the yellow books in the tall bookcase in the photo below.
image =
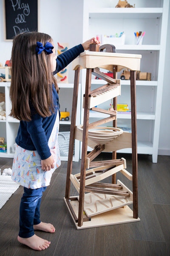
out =
{"type": "MultiPolygon", "coordinates": [[[[104,113],[98,113],[95,111],[90,111],[90,118],[106,118],[109,115],[104,113]]],[[[117,113],[118,119],[131,119],[131,113],[117,113]]],[[[136,114],[137,119],[143,119],[143,120],[155,120],[155,113],[152,112],[137,112],[136,114]]]]}

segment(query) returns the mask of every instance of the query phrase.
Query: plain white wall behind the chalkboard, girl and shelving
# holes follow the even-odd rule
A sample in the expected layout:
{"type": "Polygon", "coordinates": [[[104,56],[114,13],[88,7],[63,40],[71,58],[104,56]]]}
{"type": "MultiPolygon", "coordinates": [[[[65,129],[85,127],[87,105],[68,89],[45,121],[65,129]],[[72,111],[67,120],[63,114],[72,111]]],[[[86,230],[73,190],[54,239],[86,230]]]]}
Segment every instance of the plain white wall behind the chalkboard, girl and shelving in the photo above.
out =
{"type": "MultiPolygon", "coordinates": [[[[112,1],[111,1],[112,2],[112,1]]],[[[116,1],[118,2],[118,1],[116,1]]],[[[103,2],[104,3],[104,2],[103,2]]],[[[51,35],[57,42],[68,42],[69,47],[82,43],[83,0],[40,0],[39,31],[51,35]],[[47,8],[47,3],[48,7],[47,8]],[[63,29],[64,28],[64,29],[63,29]]],[[[170,10],[168,31],[170,31],[170,10]]],[[[11,58],[12,42],[4,41],[3,0],[0,0],[0,62],[11,58]]],[[[159,154],[170,155],[170,34],[167,35],[164,87],[161,110],[159,154]]],[[[74,81],[74,72],[69,67],[69,82],[74,81]]]]}

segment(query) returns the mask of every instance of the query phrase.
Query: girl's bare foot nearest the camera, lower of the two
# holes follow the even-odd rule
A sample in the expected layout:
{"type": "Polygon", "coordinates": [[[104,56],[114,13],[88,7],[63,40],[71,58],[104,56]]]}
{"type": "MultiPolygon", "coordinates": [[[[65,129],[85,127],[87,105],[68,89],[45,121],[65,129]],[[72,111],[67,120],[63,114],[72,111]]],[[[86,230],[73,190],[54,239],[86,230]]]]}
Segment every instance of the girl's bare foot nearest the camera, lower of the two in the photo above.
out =
{"type": "Polygon", "coordinates": [[[44,239],[40,238],[39,236],[36,236],[35,234],[34,234],[34,236],[31,236],[28,238],[22,238],[22,237],[18,236],[18,241],[21,244],[26,244],[28,247],[30,247],[34,250],[45,250],[51,244],[51,242],[44,240],[44,239]]]}

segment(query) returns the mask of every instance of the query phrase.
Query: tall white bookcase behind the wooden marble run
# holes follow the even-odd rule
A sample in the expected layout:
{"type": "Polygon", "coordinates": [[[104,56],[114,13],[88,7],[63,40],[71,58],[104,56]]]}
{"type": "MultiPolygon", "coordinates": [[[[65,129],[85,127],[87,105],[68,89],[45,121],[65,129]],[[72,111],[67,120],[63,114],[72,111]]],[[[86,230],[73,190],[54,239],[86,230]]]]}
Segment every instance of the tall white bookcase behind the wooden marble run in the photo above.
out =
{"type": "MultiPolygon", "coordinates": [[[[136,8],[113,8],[111,1],[84,0],[83,41],[96,35],[114,35],[125,32],[125,45],[116,45],[116,52],[141,54],[141,72],[152,74],[152,81],[136,81],[137,137],[138,153],[151,154],[153,163],[157,162],[159,130],[161,120],[161,101],[163,88],[164,60],[167,38],[169,0],[135,1],[136,8]],[[144,6],[146,5],[146,6],[144,6]],[[134,32],[146,32],[142,45],[136,45],[134,32]]],[[[116,6],[116,3],[115,3],[116,6]]],[[[111,43],[112,44],[112,43],[111,43]]],[[[122,72],[120,72],[122,73],[122,72]]],[[[118,73],[118,79],[120,78],[118,73]]],[[[92,79],[92,88],[104,84],[102,80],[92,79]]],[[[130,106],[130,81],[122,80],[121,96],[118,103],[130,106]]],[[[85,91],[85,71],[82,71],[82,97],[85,91]]],[[[108,105],[100,105],[108,109],[108,105]]],[[[90,121],[102,117],[90,113],[90,121]]],[[[117,116],[117,126],[130,126],[130,114],[117,116]]],[[[83,122],[83,110],[81,123],[83,122]]],[[[89,148],[89,150],[91,150],[89,148]]],[[[131,149],[119,152],[130,153],[131,149]]]]}

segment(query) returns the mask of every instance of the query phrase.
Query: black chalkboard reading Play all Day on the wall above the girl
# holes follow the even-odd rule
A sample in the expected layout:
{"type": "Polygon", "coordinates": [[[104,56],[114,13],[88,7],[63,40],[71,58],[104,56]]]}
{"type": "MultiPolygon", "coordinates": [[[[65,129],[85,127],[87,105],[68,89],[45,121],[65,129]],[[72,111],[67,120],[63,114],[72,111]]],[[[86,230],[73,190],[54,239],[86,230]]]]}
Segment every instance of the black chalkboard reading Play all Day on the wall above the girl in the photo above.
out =
{"type": "Polygon", "coordinates": [[[27,31],[38,31],[38,0],[4,0],[5,40],[27,31]]]}

